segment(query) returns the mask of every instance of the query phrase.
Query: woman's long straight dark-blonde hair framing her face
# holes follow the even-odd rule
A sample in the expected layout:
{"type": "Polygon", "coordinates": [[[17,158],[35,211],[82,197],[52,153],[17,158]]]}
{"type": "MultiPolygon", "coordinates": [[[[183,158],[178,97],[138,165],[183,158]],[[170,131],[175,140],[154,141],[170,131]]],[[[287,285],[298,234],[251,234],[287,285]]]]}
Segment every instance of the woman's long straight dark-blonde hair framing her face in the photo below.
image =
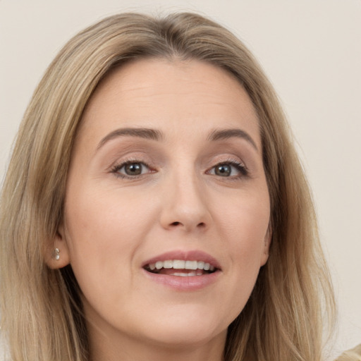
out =
{"type": "Polygon", "coordinates": [[[44,250],[62,221],[68,165],[88,99],[112,68],[147,58],[223,68],[247,90],[259,118],[273,236],[250,300],[229,326],[225,360],[322,360],[322,329],[334,298],[288,125],[244,44],[193,13],[106,18],[63,47],[35,90],[0,203],[1,325],[12,360],[87,360],[80,290],[70,266],[47,267],[44,250]]]}

